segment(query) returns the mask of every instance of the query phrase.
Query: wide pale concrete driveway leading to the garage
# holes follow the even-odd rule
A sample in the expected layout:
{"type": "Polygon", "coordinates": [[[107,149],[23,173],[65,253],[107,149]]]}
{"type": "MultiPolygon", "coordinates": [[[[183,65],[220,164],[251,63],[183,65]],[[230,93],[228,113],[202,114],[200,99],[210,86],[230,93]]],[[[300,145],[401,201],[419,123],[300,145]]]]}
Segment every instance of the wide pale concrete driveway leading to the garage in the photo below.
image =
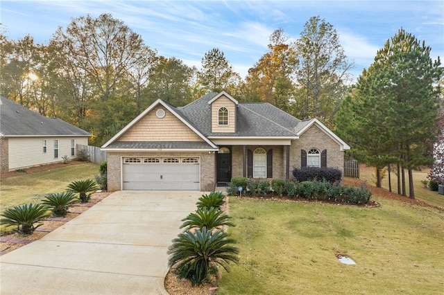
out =
{"type": "Polygon", "coordinates": [[[121,191],[0,256],[0,294],[167,294],[167,250],[197,191],[121,191]]]}

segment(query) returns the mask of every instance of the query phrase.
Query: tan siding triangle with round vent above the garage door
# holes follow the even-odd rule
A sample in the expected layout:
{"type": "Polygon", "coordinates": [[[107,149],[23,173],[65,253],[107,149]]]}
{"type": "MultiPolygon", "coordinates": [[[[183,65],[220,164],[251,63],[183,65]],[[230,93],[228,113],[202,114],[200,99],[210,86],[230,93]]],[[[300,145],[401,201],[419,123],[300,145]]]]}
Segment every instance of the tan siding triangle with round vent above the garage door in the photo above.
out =
{"type": "Polygon", "coordinates": [[[182,123],[164,107],[155,107],[133,127],[122,134],[118,141],[203,141],[198,134],[182,123]],[[165,116],[157,118],[157,109],[163,109],[165,116]]]}

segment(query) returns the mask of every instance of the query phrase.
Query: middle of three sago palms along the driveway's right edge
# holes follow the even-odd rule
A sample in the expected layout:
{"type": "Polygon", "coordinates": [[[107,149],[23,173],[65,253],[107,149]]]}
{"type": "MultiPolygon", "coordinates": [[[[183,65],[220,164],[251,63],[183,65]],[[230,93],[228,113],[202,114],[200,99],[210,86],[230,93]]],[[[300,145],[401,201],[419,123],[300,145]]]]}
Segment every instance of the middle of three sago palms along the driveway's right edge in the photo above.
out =
{"type": "Polygon", "coordinates": [[[218,208],[200,208],[196,211],[196,213],[190,213],[187,218],[182,220],[185,222],[182,224],[182,226],[180,226],[180,229],[183,227],[187,227],[187,229],[192,229],[195,227],[202,229],[203,226],[205,226],[207,229],[214,229],[219,226],[234,226],[234,224],[228,221],[231,217],[222,214],[223,212],[218,208]]]}

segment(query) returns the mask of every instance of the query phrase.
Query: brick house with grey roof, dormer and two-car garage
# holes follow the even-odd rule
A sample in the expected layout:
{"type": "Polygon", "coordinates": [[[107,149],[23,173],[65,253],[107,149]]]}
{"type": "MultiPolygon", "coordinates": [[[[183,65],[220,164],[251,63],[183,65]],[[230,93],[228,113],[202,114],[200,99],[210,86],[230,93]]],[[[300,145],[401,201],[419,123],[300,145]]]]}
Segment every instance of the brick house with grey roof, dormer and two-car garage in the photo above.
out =
{"type": "Polygon", "coordinates": [[[208,93],[185,107],[157,100],[102,146],[108,190],[214,190],[231,177],[290,179],[293,167],[343,170],[350,147],[319,120],[208,93]]]}

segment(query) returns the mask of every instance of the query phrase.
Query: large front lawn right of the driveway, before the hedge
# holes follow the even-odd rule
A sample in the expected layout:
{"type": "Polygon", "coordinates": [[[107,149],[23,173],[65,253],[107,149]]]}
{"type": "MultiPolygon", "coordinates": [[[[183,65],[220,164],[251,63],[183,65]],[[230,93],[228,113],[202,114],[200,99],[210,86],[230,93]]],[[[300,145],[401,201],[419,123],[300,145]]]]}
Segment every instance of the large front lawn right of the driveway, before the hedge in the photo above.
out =
{"type": "Polygon", "coordinates": [[[382,206],[230,198],[240,262],[218,294],[440,294],[443,211],[374,199],[382,206]]]}

